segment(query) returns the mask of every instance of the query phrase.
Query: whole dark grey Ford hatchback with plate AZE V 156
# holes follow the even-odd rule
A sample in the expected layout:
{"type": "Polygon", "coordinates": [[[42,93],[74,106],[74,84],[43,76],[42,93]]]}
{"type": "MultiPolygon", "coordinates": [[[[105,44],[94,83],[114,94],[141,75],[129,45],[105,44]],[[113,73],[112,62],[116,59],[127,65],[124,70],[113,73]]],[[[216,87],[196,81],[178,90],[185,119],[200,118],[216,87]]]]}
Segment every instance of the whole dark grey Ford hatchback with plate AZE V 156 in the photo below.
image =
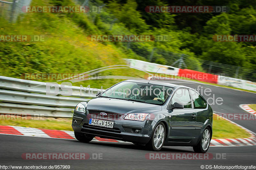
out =
{"type": "Polygon", "coordinates": [[[125,80],[79,103],[72,128],[76,139],[117,139],[145,145],[192,146],[207,152],[212,137],[212,108],[194,89],[159,81],[125,80]]]}

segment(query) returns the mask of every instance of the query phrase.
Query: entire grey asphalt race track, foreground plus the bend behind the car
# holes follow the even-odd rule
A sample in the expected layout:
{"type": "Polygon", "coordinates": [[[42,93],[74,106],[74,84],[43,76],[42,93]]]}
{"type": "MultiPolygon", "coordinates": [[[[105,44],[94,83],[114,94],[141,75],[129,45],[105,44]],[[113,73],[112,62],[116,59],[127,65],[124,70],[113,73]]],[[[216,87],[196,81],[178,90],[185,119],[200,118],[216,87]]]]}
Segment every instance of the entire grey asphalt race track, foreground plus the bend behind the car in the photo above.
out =
{"type": "MultiPolygon", "coordinates": [[[[203,89],[210,88],[208,97],[223,99],[222,105],[212,105],[216,113],[246,113],[240,104],[256,103],[255,93],[232,90],[212,85],[198,84],[194,81],[168,81],[175,84],[203,89]]],[[[200,92],[201,93],[201,92],[200,92]]],[[[234,120],[234,122],[256,133],[255,120],[234,120]]],[[[214,133],[214,132],[213,132],[214,133]]],[[[91,142],[84,144],[76,140],[52,139],[41,137],[23,137],[0,135],[0,162],[5,166],[50,166],[70,165],[70,169],[206,169],[206,165],[218,166],[256,166],[256,146],[210,147],[208,152],[213,155],[210,160],[148,160],[145,155],[150,151],[133,144],[113,144],[91,142]],[[87,160],[24,160],[22,153],[88,153],[87,160]],[[92,159],[93,153],[102,154],[102,159],[92,159]],[[221,159],[217,155],[224,155],[221,159]]],[[[163,147],[155,153],[193,153],[192,147],[163,147]]],[[[210,169],[210,168],[209,168],[210,169]]],[[[212,168],[214,169],[214,168],[212,168]]]]}

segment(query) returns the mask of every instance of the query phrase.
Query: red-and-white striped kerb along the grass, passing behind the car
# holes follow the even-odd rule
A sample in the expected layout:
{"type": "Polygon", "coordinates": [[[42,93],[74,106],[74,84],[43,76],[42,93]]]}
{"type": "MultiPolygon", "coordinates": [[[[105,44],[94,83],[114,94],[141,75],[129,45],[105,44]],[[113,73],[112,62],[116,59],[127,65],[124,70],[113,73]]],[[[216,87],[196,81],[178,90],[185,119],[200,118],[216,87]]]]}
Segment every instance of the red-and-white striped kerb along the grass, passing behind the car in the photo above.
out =
{"type": "MultiPolygon", "coordinates": [[[[223,119],[226,119],[226,118],[223,117],[223,119]]],[[[248,133],[250,133],[251,137],[237,138],[237,139],[212,139],[210,146],[222,147],[222,146],[256,145],[256,135],[252,131],[228,119],[226,120],[246,130],[248,133]]],[[[0,134],[21,135],[21,136],[28,136],[28,137],[48,137],[48,138],[72,139],[72,140],[76,139],[73,131],[25,128],[25,127],[19,127],[19,126],[1,126],[0,125],[0,134]]],[[[110,142],[110,143],[117,143],[117,142],[130,143],[130,142],[124,142],[124,141],[114,140],[114,139],[104,139],[100,137],[94,137],[92,141],[110,142]]]]}

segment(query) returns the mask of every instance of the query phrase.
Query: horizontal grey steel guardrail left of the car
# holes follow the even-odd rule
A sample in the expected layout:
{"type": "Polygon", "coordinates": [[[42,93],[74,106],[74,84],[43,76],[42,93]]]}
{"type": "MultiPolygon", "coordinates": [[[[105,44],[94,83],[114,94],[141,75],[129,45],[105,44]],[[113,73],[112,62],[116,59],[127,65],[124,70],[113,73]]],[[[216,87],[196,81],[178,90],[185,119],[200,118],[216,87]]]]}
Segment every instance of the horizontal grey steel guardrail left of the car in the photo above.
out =
{"type": "Polygon", "coordinates": [[[96,97],[92,89],[0,76],[0,113],[72,117],[76,104],[96,97]],[[64,89],[64,90],[63,90],[64,89]],[[72,90],[71,97],[60,96],[72,90]],[[48,95],[47,93],[55,93],[48,95]]]}

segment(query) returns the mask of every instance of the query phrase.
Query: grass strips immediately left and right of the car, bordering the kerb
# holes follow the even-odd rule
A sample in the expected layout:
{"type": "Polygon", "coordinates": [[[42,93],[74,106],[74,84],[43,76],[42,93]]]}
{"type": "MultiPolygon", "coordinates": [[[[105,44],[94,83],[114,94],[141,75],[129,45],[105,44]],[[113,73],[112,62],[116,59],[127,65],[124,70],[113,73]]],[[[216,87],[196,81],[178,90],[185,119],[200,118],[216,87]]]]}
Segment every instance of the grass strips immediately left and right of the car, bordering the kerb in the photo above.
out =
{"type": "MultiPolygon", "coordinates": [[[[71,118],[52,118],[52,117],[21,117],[0,115],[1,125],[21,126],[38,129],[68,130],[71,127],[71,118]]],[[[218,115],[213,115],[213,135],[212,138],[247,138],[250,134],[244,129],[221,119],[218,115]]]]}

